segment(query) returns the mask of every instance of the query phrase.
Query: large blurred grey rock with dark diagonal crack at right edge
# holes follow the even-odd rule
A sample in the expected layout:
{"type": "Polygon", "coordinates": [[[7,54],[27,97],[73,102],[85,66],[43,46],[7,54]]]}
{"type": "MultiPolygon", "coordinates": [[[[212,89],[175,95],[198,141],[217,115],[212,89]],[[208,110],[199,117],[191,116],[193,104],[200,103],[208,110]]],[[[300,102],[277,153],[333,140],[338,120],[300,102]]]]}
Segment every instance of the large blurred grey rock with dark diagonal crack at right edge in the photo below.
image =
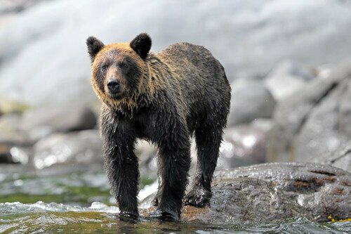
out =
{"type": "Polygon", "coordinates": [[[323,162],[321,157],[333,155],[350,138],[350,67],[351,60],[346,60],[329,78],[314,79],[277,104],[270,132],[270,162],[323,162]]]}

